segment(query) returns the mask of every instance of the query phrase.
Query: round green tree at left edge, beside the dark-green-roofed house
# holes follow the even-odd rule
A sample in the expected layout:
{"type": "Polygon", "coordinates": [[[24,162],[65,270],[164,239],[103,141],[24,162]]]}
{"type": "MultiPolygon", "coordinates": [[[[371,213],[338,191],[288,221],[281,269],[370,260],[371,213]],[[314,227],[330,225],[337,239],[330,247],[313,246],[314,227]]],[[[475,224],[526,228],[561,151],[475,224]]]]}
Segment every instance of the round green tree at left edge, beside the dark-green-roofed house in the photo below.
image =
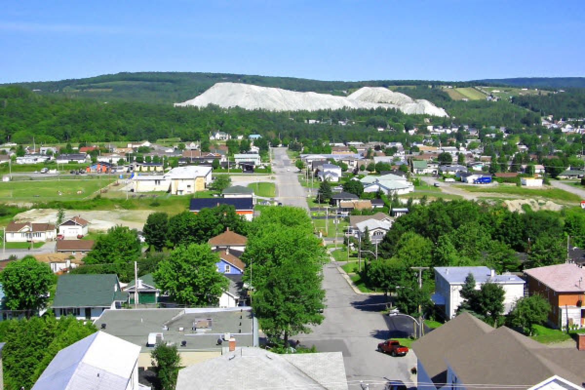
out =
{"type": "Polygon", "coordinates": [[[4,305],[10,310],[27,310],[27,316],[44,307],[47,292],[55,282],[49,264],[32,256],[10,261],[0,274],[4,305]]]}

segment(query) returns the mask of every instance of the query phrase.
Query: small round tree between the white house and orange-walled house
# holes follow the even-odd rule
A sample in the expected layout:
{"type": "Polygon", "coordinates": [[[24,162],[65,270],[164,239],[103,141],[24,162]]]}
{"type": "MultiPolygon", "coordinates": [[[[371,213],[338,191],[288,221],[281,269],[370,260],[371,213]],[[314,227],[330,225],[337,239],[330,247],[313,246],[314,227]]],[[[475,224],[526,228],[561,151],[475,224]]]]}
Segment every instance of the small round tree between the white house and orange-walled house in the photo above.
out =
{"type": "Polygon", "coordinates": [[[525,296],[516,302],[508,315],[508,323],[532,336],[534,326],[545,323],[549,313],[550,304],[542,295],[525,296]]]}

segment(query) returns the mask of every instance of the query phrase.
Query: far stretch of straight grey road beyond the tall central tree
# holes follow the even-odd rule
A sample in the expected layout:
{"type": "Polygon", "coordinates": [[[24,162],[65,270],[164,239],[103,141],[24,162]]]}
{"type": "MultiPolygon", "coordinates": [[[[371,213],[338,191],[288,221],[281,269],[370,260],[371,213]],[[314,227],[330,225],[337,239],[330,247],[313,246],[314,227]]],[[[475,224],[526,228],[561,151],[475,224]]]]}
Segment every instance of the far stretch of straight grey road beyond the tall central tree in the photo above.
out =
{"type": "Polygon", "coordinates": [[[292,165],[285,147],[275,147],[273,171],[276,174],[276,198],[283,205],[302,207],[309,211],[305,191],[298,182],[297,167],[292,165]]]}

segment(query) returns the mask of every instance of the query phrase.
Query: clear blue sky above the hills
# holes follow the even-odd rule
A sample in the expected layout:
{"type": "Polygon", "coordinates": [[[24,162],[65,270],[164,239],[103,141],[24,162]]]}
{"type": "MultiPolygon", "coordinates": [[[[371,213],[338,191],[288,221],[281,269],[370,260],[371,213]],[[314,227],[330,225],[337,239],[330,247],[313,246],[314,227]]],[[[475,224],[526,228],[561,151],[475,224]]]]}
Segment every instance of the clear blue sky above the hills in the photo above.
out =
{"type": "Polygon", "coordinates": [[[121,71],[585,76],[583,0],[2,1],[0,82],[121,71]]]}

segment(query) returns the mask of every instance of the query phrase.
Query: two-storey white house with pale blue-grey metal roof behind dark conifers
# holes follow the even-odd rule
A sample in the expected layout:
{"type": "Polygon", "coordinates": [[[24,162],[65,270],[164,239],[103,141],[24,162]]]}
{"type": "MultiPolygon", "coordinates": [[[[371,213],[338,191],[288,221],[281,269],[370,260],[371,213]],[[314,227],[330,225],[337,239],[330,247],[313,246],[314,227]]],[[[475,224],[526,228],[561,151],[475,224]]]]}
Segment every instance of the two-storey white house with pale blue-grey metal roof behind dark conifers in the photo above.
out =
{"type": "Polygon", "coordinates": [[[435,267],[435,294],[432,300],[435,305],[445,306],[445,317],[455,316],[457,308],[464,301],[460,292],[467,275],[472,274],[476,281],[476,289],[487,281],[504,288],[504,314],[508,314],[518,298],[524,296],[524,280],[515,275],[496,275],[487,267],[435,267]]]}

